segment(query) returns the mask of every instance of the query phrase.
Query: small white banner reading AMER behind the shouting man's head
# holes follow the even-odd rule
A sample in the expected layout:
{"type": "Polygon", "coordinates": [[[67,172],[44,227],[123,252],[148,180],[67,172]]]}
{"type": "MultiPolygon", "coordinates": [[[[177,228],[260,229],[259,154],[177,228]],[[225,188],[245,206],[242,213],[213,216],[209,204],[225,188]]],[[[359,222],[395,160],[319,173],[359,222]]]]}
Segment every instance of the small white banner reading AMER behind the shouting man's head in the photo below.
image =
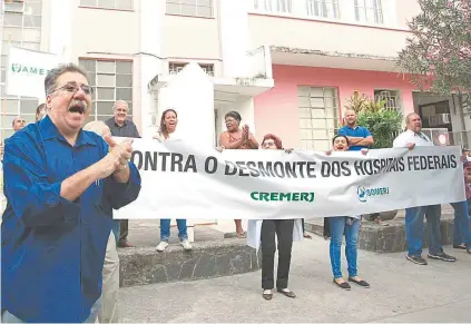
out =
{"type": "Polygon", "coordinates": [[[10,46],[7,67],[7,95],[43,100],[45,78],[59,65],[57,55],[10,46]]]}

